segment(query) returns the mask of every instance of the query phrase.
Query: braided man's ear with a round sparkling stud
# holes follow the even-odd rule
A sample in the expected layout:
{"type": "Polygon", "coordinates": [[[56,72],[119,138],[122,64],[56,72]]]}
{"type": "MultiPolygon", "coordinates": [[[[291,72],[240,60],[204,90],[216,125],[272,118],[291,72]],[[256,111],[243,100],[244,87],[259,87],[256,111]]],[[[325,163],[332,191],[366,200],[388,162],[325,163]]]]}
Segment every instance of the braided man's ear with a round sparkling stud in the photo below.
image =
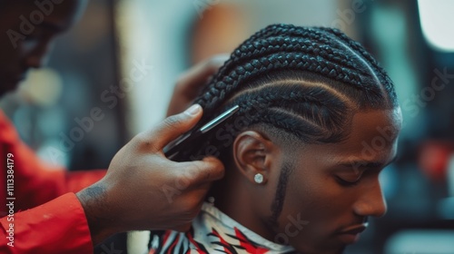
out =
{"type": "Polygon", "coordinates": [[[240,133],[233,142],[233,159],[242,175],[254,184],[265,184],[270,175],[273,152],[276,145],[264,138],[259,132],[247,131],[240,133]],[[254,180],[262,174],[261,182],[254,180]]]}

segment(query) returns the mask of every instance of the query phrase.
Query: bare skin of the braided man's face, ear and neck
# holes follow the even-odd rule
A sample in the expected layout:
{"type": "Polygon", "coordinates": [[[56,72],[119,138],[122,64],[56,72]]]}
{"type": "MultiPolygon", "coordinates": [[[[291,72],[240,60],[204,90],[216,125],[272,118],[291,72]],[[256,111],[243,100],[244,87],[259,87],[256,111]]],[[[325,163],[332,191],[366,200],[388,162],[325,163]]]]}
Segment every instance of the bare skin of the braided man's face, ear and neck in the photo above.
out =
{"type": "Polygon", "coordinates": [[[233,143],[234,165],[227,166],[221,181],[222,190],[229,191],[216,192],[216,206],[262,237],[301,253],[341,253],[359,236],[341,231],[366,226],[368,217],[386,212],[379,173],[396,156],[400,124],[400,108],[357,112],[347,140],[297,147],[261,131],[242,132],[233,143]],[[386,142],[377,142],[383,136],[378,127],[391,130],[386,142]],[[362,142],[379,149],[364,152],[362,142]],[[273,219],[283,168],[289,177],[273,219]],[[264,176],[261,184],[254,182],[256,173],[264,176]]]}

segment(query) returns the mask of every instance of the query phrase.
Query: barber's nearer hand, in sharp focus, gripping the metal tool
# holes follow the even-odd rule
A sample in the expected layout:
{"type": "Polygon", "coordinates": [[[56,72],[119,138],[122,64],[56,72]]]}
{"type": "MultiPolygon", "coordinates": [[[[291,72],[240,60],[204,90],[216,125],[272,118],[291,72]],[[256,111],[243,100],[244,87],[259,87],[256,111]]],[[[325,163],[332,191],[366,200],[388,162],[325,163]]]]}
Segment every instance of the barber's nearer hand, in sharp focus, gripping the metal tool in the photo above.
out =
{"type": "Polygon", "coordinates": [[[115,154],[101,181],[76,194],[94,244],[128,230],[189,230],[223,165],[214,158],[169,161],[163,147],[201,117],[202,108],[194,105],[138,134],[115,154]]]}

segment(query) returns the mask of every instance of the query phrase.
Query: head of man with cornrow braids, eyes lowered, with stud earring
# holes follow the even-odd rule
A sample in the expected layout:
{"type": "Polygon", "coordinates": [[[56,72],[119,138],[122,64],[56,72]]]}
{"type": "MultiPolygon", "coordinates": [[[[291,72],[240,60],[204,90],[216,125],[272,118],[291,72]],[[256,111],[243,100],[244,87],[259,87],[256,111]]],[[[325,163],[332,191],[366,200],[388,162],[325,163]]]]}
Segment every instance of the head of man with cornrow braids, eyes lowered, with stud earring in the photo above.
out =
{"type": "Polygon", "coordinates": [[[195,103],[202,122],[240,106],[187,156],[220,156],[219,202],[263,237],[336,253],[368,216],[385,213],[378,174],[395,157],[400,107],[388,75],[340,31],[271,25],[233,52],[195,103]]]}

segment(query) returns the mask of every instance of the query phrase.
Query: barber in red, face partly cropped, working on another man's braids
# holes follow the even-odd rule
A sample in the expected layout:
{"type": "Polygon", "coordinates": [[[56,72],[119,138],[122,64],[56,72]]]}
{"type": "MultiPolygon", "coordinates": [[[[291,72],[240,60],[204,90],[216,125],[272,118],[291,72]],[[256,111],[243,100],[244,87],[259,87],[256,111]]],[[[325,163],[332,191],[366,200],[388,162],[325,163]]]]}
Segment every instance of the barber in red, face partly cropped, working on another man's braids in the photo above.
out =
{"type": "MultiPolygon", "coordinates": [[[[14,91],[30,68],[41,67],[54,36],[74,24],[86,3],[0,0],[0,96],[14,91]]],[[[183,75],[169,113],[183,111],[194,98],[192,91],[219,61],[183,75]]],[[[115,154],[107,171],[69,172],[40,161],[0,112],[5,216],[0,220],[0,252],[91,253],[95,244],[117,232],[187,230],[210,182],[222,177],[223,166],[214,158],[176,163],[167,160],[162,149],[201,117],[202,108],[195,105],[138,134],[115,154]],[[185,179],[187,188],[171,203],[161,188],[181,181],[183,174],[193,177],[185,179]]]]}

